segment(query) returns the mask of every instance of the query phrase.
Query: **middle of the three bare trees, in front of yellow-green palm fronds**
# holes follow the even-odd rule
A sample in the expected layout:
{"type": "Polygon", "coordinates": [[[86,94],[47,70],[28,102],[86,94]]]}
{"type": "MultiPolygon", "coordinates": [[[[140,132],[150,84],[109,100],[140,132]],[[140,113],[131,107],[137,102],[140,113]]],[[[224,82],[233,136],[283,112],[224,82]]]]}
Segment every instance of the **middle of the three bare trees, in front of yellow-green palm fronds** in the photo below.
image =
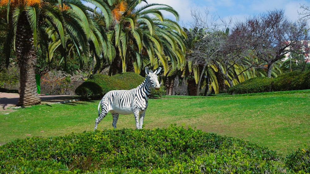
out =
{"type": "Polygon", "coordinates": [[[212,59],[230,87],[234,86],[235,79],[244,79],[241,75],[246,71],[263,66],[255,56],[255,51],[251,49],[252,40],[248,32],[249,29],[243,22],[235,23],[231,32],[224,38],[220,55],[212,59]]]}

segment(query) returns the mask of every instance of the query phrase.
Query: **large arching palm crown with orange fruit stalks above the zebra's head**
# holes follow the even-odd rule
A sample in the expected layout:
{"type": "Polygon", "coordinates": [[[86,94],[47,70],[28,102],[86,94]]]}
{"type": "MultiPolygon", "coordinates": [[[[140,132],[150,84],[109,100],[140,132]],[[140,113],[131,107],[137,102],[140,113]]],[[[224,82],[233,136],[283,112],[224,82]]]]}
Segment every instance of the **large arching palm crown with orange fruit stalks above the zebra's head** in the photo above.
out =
{"type": "Polygon", "coordinates": [[[146,1],[116,0],[111,6],[114,22],[109,35],[116,47],[111,74],[133,70],[139,73],[144,60],[153,68],[160,62],[164,74],[168,72],[169,61],[183,68],[185,46],[180,36],[185,33],[178,23],[165,19],[161,11],[172,13],[176,20],[178,13],[165,4],[138,7],[140,2],[146,1]]]}

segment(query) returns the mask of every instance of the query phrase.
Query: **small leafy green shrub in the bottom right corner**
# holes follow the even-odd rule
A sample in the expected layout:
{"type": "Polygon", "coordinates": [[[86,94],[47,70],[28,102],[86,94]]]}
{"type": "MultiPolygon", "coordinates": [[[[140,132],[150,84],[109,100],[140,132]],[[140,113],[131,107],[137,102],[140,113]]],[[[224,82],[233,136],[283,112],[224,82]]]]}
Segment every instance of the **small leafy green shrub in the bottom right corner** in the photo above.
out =
{"type": "Polygon", "coordinates": [[[310,149],[305,146],[286,156],[286,165],[295,172],[310,173],[310,149]]]}

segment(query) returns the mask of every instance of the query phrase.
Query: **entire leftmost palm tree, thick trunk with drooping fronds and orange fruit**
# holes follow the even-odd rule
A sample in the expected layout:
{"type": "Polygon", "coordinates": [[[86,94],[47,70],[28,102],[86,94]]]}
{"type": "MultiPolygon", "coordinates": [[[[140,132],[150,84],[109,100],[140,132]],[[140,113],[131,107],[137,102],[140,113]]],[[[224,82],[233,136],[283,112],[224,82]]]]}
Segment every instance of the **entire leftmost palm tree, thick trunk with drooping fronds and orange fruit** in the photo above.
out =
{"type": "MultiPolygon", "coordinates": [[[[101,0],[86,0],[86,2],[99,6],[102,11],[109,11],[106,3],[101,0]]],[[[66,48],[67,40],[71,38],[75,47],[86,54],[89,52],[88,40],[95,41],[97,38],[90,15],[86,6],[79,0],[2,0],[0,6],[1,17],[6,19],[7,25],[7,37],[4,43],[4,50],[8,52],[6,57],[9,59],[10,50],[14,48],[20,67],[18,105],[39,104],[41,100],[37,92],[34,71],[37,62],[36,49],[38,45],[47,47],[47,28],[52,26],[57,32],[58,39],[55,40],[58,40],[58,45],[62,48],[66,48]]],[[[107,15],[107,23],[110,23],[110,18],[107,15]]]]}

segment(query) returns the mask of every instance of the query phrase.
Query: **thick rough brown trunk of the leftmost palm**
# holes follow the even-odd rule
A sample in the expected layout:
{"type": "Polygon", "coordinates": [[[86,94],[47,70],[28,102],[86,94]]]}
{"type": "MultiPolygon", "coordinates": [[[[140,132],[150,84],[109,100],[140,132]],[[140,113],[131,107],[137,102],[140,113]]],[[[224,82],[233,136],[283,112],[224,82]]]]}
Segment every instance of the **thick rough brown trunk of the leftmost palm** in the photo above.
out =
{"type": "Polygon", "coordinates": [[[33,34],[26,14],[20,15],[16,30],[16,57],[20,67],[19,106],[40,104],[35,79],[37,55],[33,45],[33,34]]]}

